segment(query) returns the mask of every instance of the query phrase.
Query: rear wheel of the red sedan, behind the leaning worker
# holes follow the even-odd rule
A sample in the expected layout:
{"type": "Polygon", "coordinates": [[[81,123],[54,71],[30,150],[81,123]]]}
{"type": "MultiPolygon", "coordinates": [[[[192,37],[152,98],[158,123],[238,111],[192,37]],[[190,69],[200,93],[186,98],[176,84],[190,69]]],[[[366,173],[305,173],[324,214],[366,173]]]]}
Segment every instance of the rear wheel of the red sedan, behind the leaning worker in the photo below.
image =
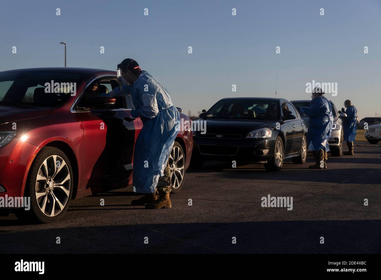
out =
{"type": "Polygon", "coordinates": [[[185,155],[179,142],[174,141],[173,148],[169,157],[171,168],[171,193],[181,190],[185,177],[185,155]]]}

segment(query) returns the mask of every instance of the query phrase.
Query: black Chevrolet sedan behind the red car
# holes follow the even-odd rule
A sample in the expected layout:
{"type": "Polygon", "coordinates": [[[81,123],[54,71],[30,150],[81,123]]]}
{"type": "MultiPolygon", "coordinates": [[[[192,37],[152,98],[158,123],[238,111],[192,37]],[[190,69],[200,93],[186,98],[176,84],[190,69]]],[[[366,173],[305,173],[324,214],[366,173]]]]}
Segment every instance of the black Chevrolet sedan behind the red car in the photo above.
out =
{"type": "Polygon", "coordinates": [[[224,98],[200,115],[205,131],[195,131],[191,165],[204,160],[264,163],[279,171],[283,160],[306,162],[307,126],[282,98],[224,98]]]}

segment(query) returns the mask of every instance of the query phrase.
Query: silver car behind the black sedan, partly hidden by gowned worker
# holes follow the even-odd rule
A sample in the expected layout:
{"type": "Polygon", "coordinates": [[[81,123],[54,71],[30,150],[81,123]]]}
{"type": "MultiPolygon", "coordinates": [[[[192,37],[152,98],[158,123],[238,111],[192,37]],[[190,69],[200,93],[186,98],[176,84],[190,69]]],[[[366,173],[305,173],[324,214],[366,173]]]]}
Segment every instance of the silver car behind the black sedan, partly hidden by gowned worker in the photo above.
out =
{"type": "MultiPolygon", "coordinates": [[[[308,107],[311,100],[291,100],[291,103],[298,109],[300,113],[301,107],[308,107]]],[[[331,156],[333,157],[339,157],[343,153],[343,138],[344,138],[344,132],[343,132],[343,125],[341,117],[344,117],[345,114],[342,116],[336,109],[335,104],[333,104],[332,101],[332,114],[333,114],[333,127],[332,127],[332,134],[330,139],[328,139],[328,146],[330,146],[331,156]]],[[[346,116],[346,115],[345,115],[346,116]]],[[[308,128],[308,117],[304,117],[301,114],[301,117],[303,118],[304,122],[307,123],[308,128]]],[[[308,131],[307,131],[308,133],[308,131]]]]}

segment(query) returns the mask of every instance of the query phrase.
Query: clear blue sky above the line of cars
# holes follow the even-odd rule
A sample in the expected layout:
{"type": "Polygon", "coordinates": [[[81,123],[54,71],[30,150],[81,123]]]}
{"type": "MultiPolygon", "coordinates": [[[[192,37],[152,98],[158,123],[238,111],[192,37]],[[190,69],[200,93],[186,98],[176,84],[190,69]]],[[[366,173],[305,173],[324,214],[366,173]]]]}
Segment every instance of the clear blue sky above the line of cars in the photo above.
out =
{"type": "Polygon", "coordinates": [[[277,97],[309,99],[307,82],[337,82],[327,97],[338,109],[351,99],[371,117],[381,114],[380,18],[380,0],[0,0],[0,70],[63,66],[65,41],[68,67],[115,70],[134,58],[185,113],[224,97],[274,97],[278,75],[277,97]]]}

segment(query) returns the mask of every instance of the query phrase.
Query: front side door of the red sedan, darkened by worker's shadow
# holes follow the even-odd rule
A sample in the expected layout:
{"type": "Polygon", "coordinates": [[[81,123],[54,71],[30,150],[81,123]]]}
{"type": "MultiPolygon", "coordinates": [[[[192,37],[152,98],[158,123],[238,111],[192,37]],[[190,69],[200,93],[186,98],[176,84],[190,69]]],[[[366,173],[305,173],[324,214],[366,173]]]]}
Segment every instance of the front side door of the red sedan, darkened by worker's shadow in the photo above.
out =
{"type": "MultiPolygon", "coordinates": [[[[98,79],[93,83],[96,82],[102,89],[107,88],[107,92],[118,86],[112,78],[98,79]]],[[[122,96],[116,99],[115,106],[107,109],[77,111],[85,134],[83,185],[86,187],[132,178],[138,120],[131,116],[128,98],[122,96]]],[[[79,102],[86,102],[85,94],[79,102]]]]}

